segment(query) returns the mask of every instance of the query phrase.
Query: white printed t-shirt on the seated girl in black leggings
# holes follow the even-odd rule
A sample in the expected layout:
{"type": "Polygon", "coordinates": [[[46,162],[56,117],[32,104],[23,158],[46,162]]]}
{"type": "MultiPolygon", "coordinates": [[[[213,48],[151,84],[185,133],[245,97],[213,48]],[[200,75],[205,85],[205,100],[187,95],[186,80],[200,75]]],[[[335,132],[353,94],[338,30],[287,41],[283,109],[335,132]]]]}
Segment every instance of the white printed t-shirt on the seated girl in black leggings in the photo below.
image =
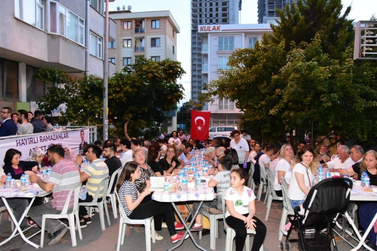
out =
{"type": "MultiPolygon", "coordinates": [[[[249,213],[249,202],[255,200],[255,194],[250,188],[244,186],[244,192],[239,195],[233,187],[228,188],[223,194],[225,200],[233,202],[234,211],[240,214],[249,213]]],[[[230,216],[228,209],[225,212],[225,218],[230,216]]]]}

